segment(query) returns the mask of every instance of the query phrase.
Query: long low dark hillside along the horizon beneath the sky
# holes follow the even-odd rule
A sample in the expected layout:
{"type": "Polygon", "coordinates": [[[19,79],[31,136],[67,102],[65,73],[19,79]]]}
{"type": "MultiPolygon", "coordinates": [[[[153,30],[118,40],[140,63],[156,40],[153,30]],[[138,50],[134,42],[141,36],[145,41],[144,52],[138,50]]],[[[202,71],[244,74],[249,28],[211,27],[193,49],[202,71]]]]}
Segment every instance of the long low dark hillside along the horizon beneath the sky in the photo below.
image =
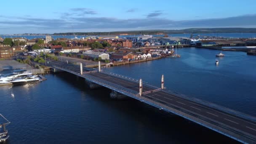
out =
{"type": "MultiPolygon", "coordinates": [[[[75,35],[157,35],[183,33],[256,33],[256,28],[192,28],[179,30],[136,30],[117,32],[75,32],[75,35]]],[[[73,32],[54,33],[53,35],[74,35],[73,32]]]]}

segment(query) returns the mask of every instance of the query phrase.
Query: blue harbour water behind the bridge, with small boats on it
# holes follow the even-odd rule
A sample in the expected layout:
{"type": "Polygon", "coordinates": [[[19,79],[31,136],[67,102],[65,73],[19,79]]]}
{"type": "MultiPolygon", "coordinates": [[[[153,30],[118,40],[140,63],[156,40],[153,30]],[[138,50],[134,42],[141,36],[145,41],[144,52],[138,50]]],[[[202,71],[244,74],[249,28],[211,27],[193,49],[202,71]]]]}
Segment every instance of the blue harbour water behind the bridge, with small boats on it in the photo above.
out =
{"type": "Polygon", "coordinates": [[[158,83],[159,87],[164,74],[169,90],[256,116],[256,56],[224,51],[216,66],[219,51],[182,48],[178,53],[179,59],[164,58],[107,70],[122,71],[123,75],[142,78],[152,85],[158,83]]]}

